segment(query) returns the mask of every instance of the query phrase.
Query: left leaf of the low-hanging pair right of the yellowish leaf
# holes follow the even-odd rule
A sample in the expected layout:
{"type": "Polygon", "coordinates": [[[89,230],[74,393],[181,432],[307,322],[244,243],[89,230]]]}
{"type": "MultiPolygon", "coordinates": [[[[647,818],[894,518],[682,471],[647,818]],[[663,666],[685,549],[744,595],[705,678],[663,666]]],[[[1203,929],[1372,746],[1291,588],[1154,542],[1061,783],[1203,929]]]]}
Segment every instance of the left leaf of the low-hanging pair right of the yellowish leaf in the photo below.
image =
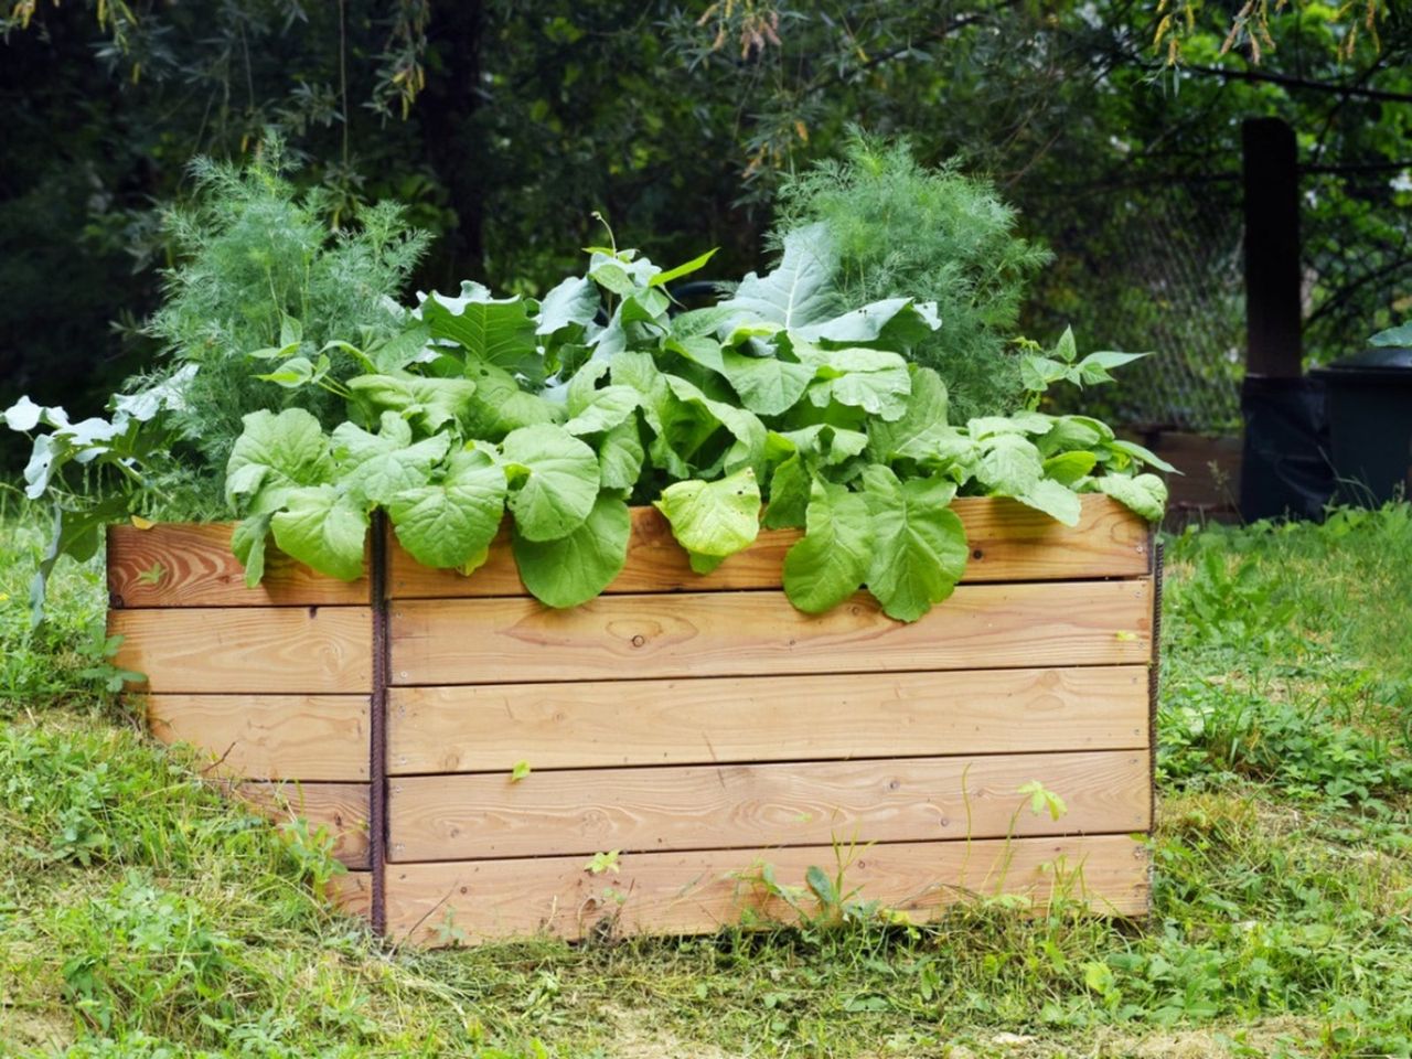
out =
{"type": "Polygon", "coordinates": [[[806,532],[784,563],[785,594],[806,614],[820,614],[863,587],[873,559],[873,517],[860,493],[815,481],[806,532]]]}

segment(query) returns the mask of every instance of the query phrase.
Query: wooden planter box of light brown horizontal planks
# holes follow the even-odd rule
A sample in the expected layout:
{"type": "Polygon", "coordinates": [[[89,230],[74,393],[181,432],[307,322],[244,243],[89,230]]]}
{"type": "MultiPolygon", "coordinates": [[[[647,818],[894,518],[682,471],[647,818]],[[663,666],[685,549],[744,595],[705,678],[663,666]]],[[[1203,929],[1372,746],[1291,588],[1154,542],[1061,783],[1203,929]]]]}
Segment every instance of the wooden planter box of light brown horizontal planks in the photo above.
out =
{"type": "Polygon", "coordinates": [[[503,544],[469,579],[384,541],[354,583],[273,556],[249,590],[229,525],[116,527],[109,631],[147,675],[154,733],[326,825],[340,899],[397,939],[789,918],[762,866],[799,885],[839,856],[863,899],[918,918],[1056,888],[1141,915],[1149,527],[1100,496],[1075,530],[1010,501],[956,510],[966,582],[911,626],[861,594],[795,611],[794,532],[700,578],[644,508],[623,573],[569,611],[525,593],[503,544]],[[1034,815],[1029,781],[1067,813],[1034,815]],[[616,870],[587,870],[611,851],[616,870]]]}

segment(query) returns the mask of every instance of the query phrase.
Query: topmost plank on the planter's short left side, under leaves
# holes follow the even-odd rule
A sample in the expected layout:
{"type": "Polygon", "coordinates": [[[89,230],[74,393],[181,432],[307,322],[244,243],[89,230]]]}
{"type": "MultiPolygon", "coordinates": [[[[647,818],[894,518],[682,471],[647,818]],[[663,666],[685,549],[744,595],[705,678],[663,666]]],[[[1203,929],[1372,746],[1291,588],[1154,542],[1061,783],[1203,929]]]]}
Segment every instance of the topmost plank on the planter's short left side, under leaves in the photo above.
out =
{"type": "Polygon", "coordinates": [[[107,531],[107,590],[113,607],[268,607],[369,603],[367,578],[316,573],[273,545],[258,586],[230,551],[234,522],[162,522],[107,531]]]}

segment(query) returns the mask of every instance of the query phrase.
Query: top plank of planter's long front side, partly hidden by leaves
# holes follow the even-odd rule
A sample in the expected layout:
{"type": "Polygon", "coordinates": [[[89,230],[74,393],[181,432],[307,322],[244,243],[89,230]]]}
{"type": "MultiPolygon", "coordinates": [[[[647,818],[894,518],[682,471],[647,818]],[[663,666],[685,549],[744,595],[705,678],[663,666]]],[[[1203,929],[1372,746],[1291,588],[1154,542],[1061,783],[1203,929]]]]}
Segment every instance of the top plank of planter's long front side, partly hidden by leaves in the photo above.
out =
{"type": "MultiPolygon", "coordinates": [[[[1106,496],[1083,497],[1083,520],[1073,528],[1012,500],[963,497],[955,510],[971,548],[966,582],[1138,578],[1151,568],[1148,524],[1106,496]]],[[[762,530],[753,546],[702,576],[692,572],[686,552],[661,513],[654,507],[634,508],[627,565],[606,592],[778,589],[785,552],[798,539],[794,530],[762,530]]],[[[388,569],[388,593],[394,599],[527,594],[508,534],[501,534],[490,558],[469,578],[421,566],[395,538],[388,569]]]]}

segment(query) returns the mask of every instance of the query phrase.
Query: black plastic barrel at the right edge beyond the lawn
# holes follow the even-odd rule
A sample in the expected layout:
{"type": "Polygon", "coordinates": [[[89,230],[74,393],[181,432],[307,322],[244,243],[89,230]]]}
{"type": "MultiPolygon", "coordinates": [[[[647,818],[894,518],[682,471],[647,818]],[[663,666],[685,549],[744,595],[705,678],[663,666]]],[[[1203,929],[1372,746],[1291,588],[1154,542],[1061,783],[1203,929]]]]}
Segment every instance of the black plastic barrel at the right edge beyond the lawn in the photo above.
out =
{"type": "Polygon", "coordinates": [[[1339,500],[1412,496],[1412,349],[1367,349],[1309,374],[1324,385],[1339,500]]]}

